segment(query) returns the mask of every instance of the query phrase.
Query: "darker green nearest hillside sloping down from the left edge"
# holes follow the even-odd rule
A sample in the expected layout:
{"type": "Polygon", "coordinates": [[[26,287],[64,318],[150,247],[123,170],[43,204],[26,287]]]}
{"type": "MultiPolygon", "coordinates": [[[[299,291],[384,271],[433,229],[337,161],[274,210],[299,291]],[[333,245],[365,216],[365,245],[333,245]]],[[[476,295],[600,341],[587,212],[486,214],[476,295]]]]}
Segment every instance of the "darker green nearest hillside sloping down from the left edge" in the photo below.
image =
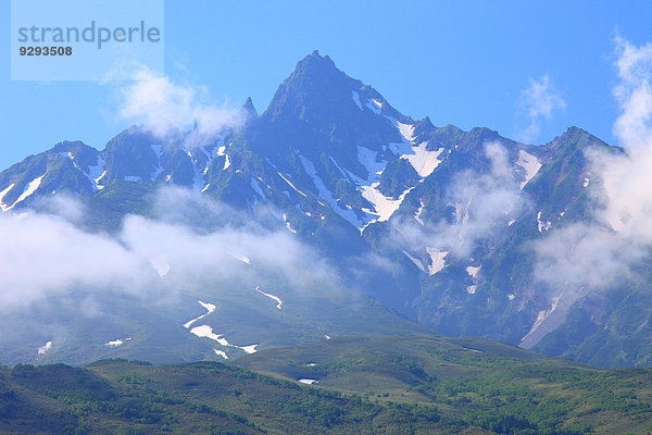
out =
{"type": "Polygon", "coordinates": [[[0,378],[3,434],[448,433],[439,420],[434,408],[377,405],[216,362],[17,365],[0,378]]]}

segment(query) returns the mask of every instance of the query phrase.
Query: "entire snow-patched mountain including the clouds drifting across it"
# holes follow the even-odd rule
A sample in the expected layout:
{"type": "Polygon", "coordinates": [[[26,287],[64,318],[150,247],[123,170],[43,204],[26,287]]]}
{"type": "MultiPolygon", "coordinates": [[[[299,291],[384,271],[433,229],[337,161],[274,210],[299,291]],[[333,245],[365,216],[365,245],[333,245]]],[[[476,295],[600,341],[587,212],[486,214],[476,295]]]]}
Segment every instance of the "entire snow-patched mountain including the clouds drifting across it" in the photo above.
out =
{"type": "MultiPolygon", "coordinates": [[[[640,80],[624,83],[626,102],[640,80]]],[[[535,146],[413,120],[316,51],[261,114],[188,113],[209,115],[0,173],[0,362],[430,330],[650,364],[648,209],[613,200],[645,166],[622,148],[578,127],[535,146]]]]}

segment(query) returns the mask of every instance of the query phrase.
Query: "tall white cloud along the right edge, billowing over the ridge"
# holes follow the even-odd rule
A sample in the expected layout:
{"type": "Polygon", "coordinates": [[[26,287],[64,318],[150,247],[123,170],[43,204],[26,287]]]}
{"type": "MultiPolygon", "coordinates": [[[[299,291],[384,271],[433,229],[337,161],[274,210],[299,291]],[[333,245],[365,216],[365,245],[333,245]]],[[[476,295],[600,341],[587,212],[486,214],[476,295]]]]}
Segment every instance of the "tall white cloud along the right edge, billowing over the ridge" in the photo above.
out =
{"type": "Polygon", "coordinates": [[[619,115],[614,133],[625,153],[592,151],[594,209],[536,245],[537,277],[556,291],[601,290],[650,256],[652,247],[652,45],[615,38],[619,115]]]}

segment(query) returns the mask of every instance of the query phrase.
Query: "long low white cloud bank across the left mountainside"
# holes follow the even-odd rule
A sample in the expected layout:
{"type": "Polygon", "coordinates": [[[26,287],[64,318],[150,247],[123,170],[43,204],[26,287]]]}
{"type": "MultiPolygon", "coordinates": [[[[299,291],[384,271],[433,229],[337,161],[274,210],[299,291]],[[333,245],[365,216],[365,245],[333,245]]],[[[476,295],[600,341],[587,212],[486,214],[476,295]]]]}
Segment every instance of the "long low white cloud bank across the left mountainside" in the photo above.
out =
{"type": "Polygon", "coordinates": [[[80,289],[152,297],[196,285],[217,288],[239,276],[283,279],[300,289],[331,274],[312,249],[264,225],[264,216],[239,215],[183,189],[159,192],[156,209],[171,210],[172,201],[176,213],[128,215],[116,236],[80,229],[83,208],[58,201],[52,213],[0,214],[0,310],[80,289]],[[75,212],[57,212],[62,204],[75,212]],[[214,225],[184,222],[184,209],[201,209],[214,225]]]}

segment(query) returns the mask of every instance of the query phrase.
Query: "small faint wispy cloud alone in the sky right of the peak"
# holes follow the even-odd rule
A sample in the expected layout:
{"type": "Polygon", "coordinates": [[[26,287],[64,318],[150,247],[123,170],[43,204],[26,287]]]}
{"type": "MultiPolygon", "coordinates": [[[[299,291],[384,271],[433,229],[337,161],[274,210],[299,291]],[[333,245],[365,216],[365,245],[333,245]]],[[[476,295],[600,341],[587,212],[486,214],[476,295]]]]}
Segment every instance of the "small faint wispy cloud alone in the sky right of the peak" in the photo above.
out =
{"type": "Polygon", "coordinates": [[[519,104],[526,111],[529,124],[517,134],[518,139],[530,142],[541,133],[541,122],[552,119],[555,111],[566,109],[566,102],[559,95],[549,75],[530,78],[529,86],[521,92],[519,104]]]}

